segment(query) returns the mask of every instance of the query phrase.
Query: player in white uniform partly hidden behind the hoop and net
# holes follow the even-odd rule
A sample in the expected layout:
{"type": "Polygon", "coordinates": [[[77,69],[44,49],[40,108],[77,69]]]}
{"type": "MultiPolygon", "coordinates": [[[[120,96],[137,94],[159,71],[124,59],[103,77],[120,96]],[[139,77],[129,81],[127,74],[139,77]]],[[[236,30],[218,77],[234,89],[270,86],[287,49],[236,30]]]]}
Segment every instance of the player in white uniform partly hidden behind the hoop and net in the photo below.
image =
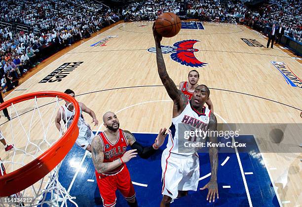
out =
{"type": "MultiPolygon", "coordinates": [[[[67,89],[64,93],[71,95],[72,97],[75,97],[75,92],[67,89]]],[[[82,115],[82,111],[88,113],[92,117],[92,122],[94,122],[94,126],[97,126],[99,124],[99,121],[97,120],[95,113],[93,110],[88,108],[85,104],[79,102],[80,106],[80,117],[77,122],[78,127],[78,137],[76,139],[76,144],[80,146],[82,149],[86,149],[89,152],[91,152],[91,141],[92,138],[94,138],[94,134],[92,133],[92,130],[90,126],[85,122],[84,117],[82,115]]],[[[61,106],[60,109],[57,112],[57,116],[55,118],[55,124],[57,129],[61,130],[61,119],[63,119],[64,123],[67,122],[67,127],[72,123],[73,118],[75,116],[75,110],[74,105],[68,101],[66,101],[66,104],[61,106]]],[[[64,134],[64,132],[63,132],[64,134]]]]}

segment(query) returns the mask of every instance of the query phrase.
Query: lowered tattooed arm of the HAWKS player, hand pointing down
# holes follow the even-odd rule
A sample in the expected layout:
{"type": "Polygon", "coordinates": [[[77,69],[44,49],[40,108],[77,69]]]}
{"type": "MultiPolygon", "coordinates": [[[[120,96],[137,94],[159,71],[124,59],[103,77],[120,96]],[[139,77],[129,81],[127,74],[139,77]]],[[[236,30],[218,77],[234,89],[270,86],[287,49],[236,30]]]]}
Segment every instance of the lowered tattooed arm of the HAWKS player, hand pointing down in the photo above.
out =
{"type": "MultiPolygon", "coordinates": [[[[217,119],[214,113],[211,113],[210,115],[210,121],[209,121],[209,130],[210,132],[217,131],[217,119]]],[[[210,139],[209,141],[212,143],[217,143],[217,137],[213,136],[216,135],[216,133],[210,133],[210,139]]],[[[215,196],[219,199],[218,194],[218,185],[217,185],[217,168],[218,168],[218,149],[217,147],[210,147],[209,148],[209,157],[210,157],[210,163],[211,163],[211,179],[210,182],[208,182],[205,186],[200,188],[200,190],[204,190],[206,188],[209,189],[208,195],[207,195],[207,201],[211,203],[211,200],[213,198],[213,202],[215,202],[215,196]]]]}

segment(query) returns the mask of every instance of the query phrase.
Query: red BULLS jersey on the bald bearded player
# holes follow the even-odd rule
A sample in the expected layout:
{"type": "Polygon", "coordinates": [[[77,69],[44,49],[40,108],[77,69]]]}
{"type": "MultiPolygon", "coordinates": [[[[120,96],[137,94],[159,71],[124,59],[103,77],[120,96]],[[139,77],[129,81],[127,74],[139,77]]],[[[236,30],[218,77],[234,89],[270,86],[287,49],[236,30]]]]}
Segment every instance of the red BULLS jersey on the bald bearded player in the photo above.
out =
{"type": "MultiPolygon", "coordinates": [[[[104,132],[98,134],[98,136],[103,141],[103,152],[104,152],[104,163],[113,162],[121,158],[124,153],[126,152],[126,148],[128,146],[128,141],[124,135],[123,130],[118,129],[118,137],[115,143],[112,143],[109,138],[107,138],[104,132]]],[[[114,175],[119,173],[125,164],[118,166],[117,168],[113,169],[110,172],[102,173],[103,175],[114,175]]],[[[96,172],[97,173],[97,172],[96,172]]],[[[99,173],[98,173],[99,174],[99,173]]],[[[102,177],[102,174],[99,174],[102,177]]]]}

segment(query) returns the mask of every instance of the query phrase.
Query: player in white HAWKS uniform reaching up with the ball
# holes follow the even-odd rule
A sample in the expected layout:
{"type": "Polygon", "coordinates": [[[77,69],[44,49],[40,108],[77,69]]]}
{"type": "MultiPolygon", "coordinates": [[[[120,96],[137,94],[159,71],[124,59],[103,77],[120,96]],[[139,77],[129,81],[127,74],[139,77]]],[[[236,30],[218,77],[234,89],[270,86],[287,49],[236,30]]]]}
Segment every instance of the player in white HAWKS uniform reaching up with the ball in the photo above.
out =
{"type": "MultiPolygon", "coordinates": [[[[200,123],[202,130],[217,131],[217,119],[204,104],[209,99],[210,90],[205,85],[198,85],[188,103],[186,96],[177,89],[173,80],[169,77],[164,59],[162,56],[160,41],[162,36],[158,35],[153,24],[153,36],[156,46],[156,63],[159,77],[173,100],[172,125],[169,129],[169,139],[167,148],[162,153],[162,194],[161,207],[170,206],[172,199],[186,196],[189,190],[196,191],[199,179],[199,158],[196,153],[184,153],[179,150],[179,126],[200,123]],[[202,123],[202,124],[201,124],[202,123]]],[[[216,142],[217,138],[210,140],[216,142]]],[[[207,200],[215,201],[218,198],[217,168],[218,150],[216,147],[209,147],[211,162],[211,180],[203,188],[208,188],[207,200]]]]}

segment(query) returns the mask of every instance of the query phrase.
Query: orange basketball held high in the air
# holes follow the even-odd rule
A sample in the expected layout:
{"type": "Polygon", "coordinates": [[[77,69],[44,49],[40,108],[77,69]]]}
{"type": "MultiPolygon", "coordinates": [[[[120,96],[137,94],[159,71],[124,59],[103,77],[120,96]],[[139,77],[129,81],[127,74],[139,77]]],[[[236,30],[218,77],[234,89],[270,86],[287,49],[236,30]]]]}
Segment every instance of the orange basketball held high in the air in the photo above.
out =
{"type": "Polygon", "coordinates": [[[171,12],[162,13],[155,21],[155,29],[159,35],[172,37],[179,33],[182,27],[180,18],[171,12]]]}

